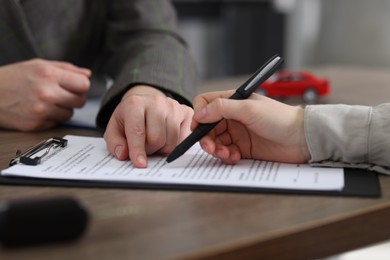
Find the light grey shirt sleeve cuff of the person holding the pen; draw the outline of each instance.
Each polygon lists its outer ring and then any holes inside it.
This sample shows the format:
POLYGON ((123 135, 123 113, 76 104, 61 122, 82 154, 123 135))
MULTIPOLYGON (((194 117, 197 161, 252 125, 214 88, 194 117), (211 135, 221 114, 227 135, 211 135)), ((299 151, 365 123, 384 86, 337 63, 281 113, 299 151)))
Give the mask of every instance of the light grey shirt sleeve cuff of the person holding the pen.
POLYGON ((304 129, 309 163, 390 174, 389 116, 390 103, 307 106, 304 129))

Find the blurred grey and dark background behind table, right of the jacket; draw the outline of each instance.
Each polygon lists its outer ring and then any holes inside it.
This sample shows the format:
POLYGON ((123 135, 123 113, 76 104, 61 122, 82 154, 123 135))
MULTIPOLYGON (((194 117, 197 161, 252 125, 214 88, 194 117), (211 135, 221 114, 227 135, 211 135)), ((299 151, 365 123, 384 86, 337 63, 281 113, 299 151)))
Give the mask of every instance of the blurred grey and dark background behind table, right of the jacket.
POLYGON ((388 0, 175 0, 202 79, 285 68, 390 65, 388 0))

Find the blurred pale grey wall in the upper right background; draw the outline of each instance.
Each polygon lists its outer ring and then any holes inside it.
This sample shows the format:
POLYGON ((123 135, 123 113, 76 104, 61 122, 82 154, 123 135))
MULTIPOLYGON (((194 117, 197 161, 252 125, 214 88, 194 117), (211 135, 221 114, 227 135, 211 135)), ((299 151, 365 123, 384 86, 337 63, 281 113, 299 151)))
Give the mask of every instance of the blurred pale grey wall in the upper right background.
MULTIPOLYGON (((280 0, 285 1, 285 0, 280 0)), ((389 0, 288 0, 287 64, 390 66, 389 0)))

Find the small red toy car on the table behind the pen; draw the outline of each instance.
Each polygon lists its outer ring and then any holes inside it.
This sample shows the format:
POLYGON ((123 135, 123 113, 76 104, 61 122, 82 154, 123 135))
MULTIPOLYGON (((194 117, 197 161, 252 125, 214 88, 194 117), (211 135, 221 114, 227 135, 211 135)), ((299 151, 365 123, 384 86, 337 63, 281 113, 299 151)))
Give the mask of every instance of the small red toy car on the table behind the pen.
POLYGON ((306 103, 315 103, 318 97, 330 93, 327 79, 320 79, 307 71, 280 71, 271 76, 256 90, 272 98, 302 97, 306 103))

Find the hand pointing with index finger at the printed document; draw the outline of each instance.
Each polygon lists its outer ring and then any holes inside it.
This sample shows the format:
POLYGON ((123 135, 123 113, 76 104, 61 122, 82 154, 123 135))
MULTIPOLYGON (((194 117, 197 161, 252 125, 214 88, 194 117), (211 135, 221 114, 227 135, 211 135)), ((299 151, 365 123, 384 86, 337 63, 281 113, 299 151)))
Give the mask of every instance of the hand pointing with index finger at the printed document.
POLYGON ((118 159, 147 167, 146 155, 166 154, 190 134, 192 108, 148 86, 132 87, 108 122, 104 139, 118 159))

